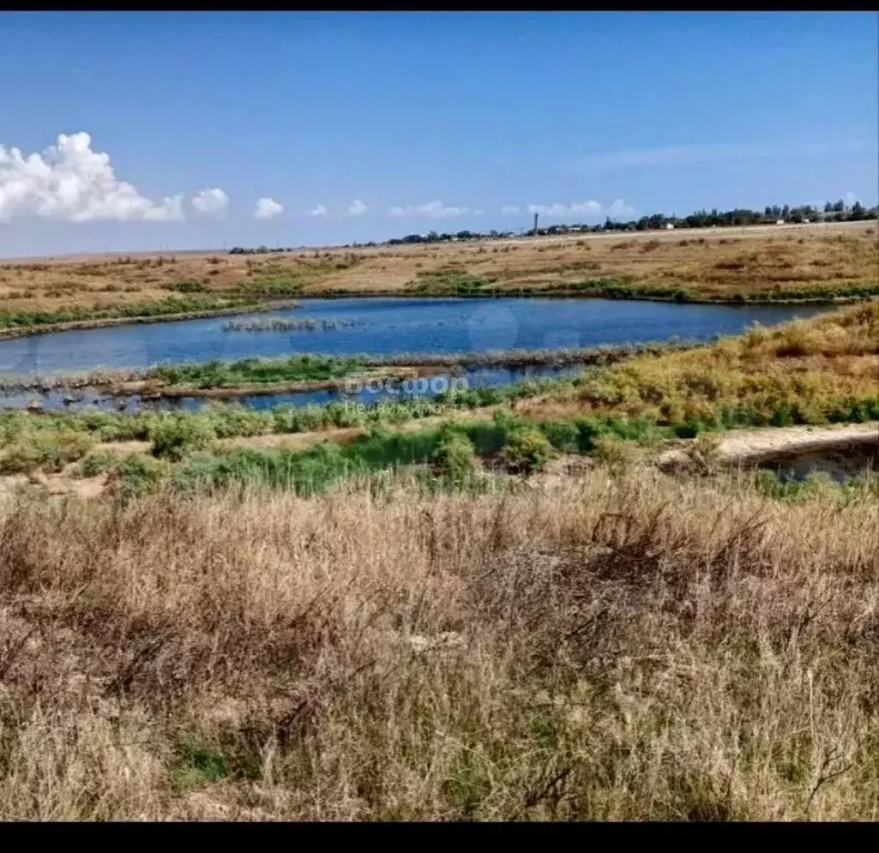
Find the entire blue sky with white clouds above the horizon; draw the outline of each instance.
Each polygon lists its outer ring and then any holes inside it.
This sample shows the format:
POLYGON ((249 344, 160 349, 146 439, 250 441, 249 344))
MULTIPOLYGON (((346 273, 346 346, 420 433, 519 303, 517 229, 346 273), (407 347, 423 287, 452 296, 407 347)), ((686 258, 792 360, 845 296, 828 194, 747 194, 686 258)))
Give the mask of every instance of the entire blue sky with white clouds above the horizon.
POLYGON ((878 39, 875 12, 7 12, 0 254, 875 204, 878 39))

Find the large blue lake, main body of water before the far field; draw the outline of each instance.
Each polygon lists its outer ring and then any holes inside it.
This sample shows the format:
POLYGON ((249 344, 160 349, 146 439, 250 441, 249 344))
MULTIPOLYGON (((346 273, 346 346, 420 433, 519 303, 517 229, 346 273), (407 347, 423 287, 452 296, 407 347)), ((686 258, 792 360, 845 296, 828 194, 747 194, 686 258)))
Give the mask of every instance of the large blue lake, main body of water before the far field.
POLYGON ((296 309, 237 321, 314 320, 313 331, 223 331, 229 318, 54 332, 0 340, 0 375, 49 377, 100 368, 213 359, 485 352, 705 341, 812 317, 828 307, 700 305, 602 299, 303 299, 296 309), (354 325, 322 330, 321 321, 354 325))

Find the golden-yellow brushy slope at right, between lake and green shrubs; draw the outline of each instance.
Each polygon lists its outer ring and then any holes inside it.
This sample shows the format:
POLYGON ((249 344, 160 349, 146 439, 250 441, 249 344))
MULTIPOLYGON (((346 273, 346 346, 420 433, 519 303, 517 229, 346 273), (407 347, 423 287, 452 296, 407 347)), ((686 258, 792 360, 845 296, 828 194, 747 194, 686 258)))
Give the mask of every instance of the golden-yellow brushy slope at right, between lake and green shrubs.
POLYGON ((769 417, 796 407, 805 422, 846 399, 879 397, 879 300, 777 328, 756 325, 708 348, 636 357, 601 369, 579 388, 523 400, 527 414, 647 415, 662 423, 741 407, 769 417))

